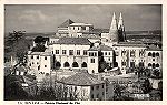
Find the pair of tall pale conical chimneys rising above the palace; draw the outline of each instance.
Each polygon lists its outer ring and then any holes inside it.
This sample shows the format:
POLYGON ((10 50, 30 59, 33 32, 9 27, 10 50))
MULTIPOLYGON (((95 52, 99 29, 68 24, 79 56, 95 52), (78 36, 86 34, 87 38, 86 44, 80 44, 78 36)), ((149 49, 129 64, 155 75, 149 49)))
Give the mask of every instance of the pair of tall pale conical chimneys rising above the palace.
MULTIPOLYGON (((118 34, 120 34, 120 33, 118 33, 119 30, 121 30, 121 32, 125 32, 122 15, 120 12, 119 21, 117 23, 116 13, 114 12, 112 21, 111 21, 110 29, 109 29, 109 40, 111 42, 117 43, 119 41, 119 35, 118 35, 118 34)), ((124 35, 124 34, 121 34, 121 35, 124 35)))

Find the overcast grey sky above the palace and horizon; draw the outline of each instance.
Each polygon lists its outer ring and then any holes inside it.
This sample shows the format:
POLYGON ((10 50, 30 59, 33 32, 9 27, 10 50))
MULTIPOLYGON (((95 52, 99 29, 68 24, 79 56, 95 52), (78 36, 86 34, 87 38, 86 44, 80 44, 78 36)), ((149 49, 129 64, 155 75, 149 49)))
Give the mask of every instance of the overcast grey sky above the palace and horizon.
POLYGON ((6 6, 4 31, 56 32, 67 19, 109 29, 112 13, 122 12, 126 30, 161 29, 161 6, 147 4, 58 4, 6 6))

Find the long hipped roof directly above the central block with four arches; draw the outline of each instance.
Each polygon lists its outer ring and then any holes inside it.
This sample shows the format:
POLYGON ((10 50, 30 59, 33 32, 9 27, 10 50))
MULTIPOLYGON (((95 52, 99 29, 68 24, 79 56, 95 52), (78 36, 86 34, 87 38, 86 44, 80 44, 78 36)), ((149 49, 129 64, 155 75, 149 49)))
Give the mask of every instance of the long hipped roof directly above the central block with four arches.
POLYGON ((56 44, 79 44, 90 45, 91 42, 86 38, 60 38, 56 44))

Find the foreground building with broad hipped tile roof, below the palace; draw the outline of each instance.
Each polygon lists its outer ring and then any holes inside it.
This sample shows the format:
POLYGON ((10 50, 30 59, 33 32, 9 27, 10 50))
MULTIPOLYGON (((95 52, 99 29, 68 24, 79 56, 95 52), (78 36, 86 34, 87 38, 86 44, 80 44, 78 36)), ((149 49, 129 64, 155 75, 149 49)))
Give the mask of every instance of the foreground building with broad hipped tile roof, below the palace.
POLYGON ((105 81, 87 72, 79 72, 67 78, 58 81, 67 87, 67 96, 73 96, 79 101, 109 99, 112 97, 112 88, 105 81))

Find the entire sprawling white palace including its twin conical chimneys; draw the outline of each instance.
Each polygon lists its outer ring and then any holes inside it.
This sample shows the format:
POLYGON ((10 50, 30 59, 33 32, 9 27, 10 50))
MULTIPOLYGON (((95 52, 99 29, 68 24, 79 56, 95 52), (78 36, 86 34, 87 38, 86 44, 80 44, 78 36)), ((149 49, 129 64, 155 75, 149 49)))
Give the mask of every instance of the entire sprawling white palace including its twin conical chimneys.
POLYGON ((92 24, 67 20, 43 46, 43 51, 28 53, 28 65, 36 75, 56 70, 97 74, 116 67, 126 74, 130 67, 160 70, 163 66, 163 50, 158 45, 126 41, 121 13, 118 22, 114 13, 109 32, 100 34, 94 31, 92 24))

